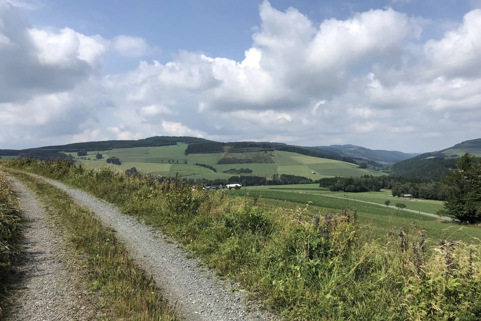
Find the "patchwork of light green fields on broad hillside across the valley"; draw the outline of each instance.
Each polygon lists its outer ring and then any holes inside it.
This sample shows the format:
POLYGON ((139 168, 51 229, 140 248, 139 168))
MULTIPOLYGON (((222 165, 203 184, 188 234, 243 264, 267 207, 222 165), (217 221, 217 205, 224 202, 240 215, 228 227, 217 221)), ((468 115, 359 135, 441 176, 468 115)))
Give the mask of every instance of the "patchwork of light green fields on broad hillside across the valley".
MULTIPOLYGON (((291 174, 311 178, 313 180, 322 177, 332 176, 361 176, 361 175, 384 175, 384 173, 369 169, 359 169, 354 164, 343 161, 323 159, 301 154, 275 151, 272 160, 274 163, 253 163, 253 164, 221 164, 217 161, 222 158, 222 153, 190 154, 185 155, 187 144, 161 147, 131 147, 114 148, 110 150, 89 151, 85 156, 90 160, 77 160, 81 164, 99 167, 105 165, 109 157, 117 157, 122 162, 122 170, 135 167, 140 172, 148 172, 160 175, 172 175, 179 173, 189 178, 206 179, 228 179, 232 174, 222 173, 231 168, 249 168, 252 175, 261 175, 271 178, 273 174, 291 174), (95 154, 102 154, 101 160, 95 160, 95 154), (187 162, 187 163, 186 163, 187 162), (217 173, 211 170, 194 165, 195 163, 213 166, 217 173), (312 174, 315 172, 316 174, 312 174)), ((69 154, 68 152, 66 152, 69 154)), ((70 153, 72 154, 72 153, 70 153)), ((72 154, 76 157, 76 153, 72 154)))

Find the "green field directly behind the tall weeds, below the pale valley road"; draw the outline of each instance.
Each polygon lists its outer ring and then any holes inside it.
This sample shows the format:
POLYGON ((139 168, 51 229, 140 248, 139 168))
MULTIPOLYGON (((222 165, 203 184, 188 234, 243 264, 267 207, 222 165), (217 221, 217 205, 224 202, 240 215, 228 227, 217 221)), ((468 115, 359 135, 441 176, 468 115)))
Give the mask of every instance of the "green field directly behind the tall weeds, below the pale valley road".
MULTIPOLYGON (((386 233, 392 232, 396 234, 399 229, 406 227, 419 226, 426 231, 429 238, 435 242, 438 239, 452 238, 456 240, 475 241, 471 238, 481 237, 481 227, 460 226, 452 222, 444 222, 435 217, 419 215, 416 213, 402 211, 387 207, 378 206, 364 202, 356 202, 353 199, 340 199, 329 197, 326 195, 304 194, 304 192, 283 191, 283 190, 266 190, 266 189, 242 188, 241 190, 226 190, 226 194, 232 196, 247 196, 250 198, 257 197, 259 203, 272 206, 281 206, 285 208, 304 207, 308 202, 310 213, 315 214, 319 211, 327 210, 329 212, 340 213, 345 207, 349 207, 351 211, 357 208, 358 221, 362 225, 371 224, 376 228, 373 229, 373 236, 376 238, 383 237, 386 233), (265 199, 266 197, 266 199, 265 199)), ((352 213, 352 212, 351 212, 352 213)), ((475 241, 479 242, 479 241, 475 241)))

